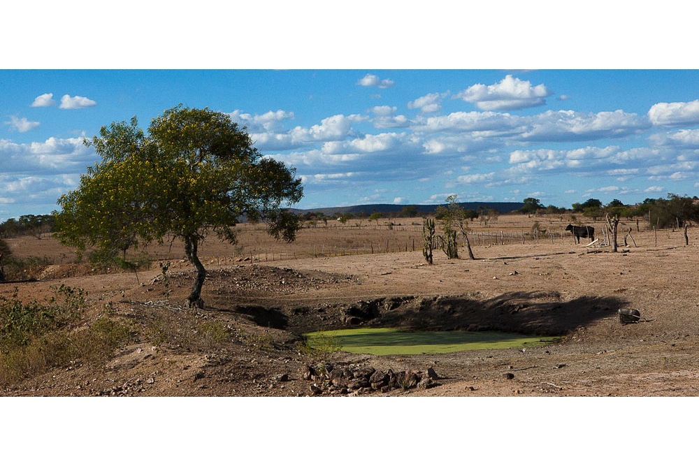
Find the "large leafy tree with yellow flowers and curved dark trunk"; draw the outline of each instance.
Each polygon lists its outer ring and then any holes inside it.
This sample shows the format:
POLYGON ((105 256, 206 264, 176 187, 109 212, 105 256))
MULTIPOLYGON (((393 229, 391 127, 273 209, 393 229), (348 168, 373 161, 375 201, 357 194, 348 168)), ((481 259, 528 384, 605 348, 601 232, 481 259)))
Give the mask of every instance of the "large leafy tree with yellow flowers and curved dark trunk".
POLYGON ((189 307, 203 307, 198 247, 207 233, 233 244, 240 217, 266 221, 268 233, 287 242, 301 228, 287 208, 303 196, 295 169, 262 156, 224 113, 178 105, 154 118, 147 134, 134 117, 84 142, 102 161, 59 198, 59 240, 113 257, 166 235, 181 238, 196 270, 189 307))

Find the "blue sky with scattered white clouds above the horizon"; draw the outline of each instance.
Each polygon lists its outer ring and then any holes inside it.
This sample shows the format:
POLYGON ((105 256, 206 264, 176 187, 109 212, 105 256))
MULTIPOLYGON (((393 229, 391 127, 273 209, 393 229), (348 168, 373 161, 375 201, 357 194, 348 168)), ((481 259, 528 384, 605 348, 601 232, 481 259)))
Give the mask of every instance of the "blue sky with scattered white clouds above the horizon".
POLYGON ((1 221, 55 210, 100 126, 179 103, 296 168, 299 208, 699 191, 697 70, 2 70, 0 90, 1 221))

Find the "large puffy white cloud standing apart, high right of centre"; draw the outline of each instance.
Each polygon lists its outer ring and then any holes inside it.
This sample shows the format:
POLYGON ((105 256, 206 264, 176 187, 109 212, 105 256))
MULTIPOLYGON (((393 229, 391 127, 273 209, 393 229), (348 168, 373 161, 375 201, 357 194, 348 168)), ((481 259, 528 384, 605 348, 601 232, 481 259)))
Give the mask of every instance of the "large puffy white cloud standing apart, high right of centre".
POLYGON ((529 81, 507 75, 493 85, 470 86, 454 95, 454 99, 474 103, 480 110, 520 110, 545 105, 545 98, 552 94, 545 85, 532 86, 529 81))

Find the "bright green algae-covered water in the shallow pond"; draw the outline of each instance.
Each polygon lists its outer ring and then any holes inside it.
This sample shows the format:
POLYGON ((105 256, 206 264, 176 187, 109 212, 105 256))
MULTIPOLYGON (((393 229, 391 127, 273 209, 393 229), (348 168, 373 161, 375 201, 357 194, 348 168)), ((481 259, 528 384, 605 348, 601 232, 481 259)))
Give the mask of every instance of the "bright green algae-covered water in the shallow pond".
POLYGON ((465 349, 504 349, 540 347, 558 337, 539 337, 517 333, 410 332, 397 328, 359 328, 307 333, 308 345, 316 349, 347 351, 357 354, 431 354, 465 349))

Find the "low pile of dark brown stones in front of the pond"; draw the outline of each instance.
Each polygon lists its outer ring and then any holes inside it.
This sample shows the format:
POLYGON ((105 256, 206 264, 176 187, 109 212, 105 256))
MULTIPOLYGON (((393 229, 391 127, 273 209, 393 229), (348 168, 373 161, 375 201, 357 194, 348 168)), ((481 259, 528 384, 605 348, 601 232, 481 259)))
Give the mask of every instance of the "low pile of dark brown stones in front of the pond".
POLYGON ((432 367, 425 371, 401 370, 394 372, 377 370, 374 367, 333 367, 322 363, 315 367, 303 368, 303 379, 313 381, 310 390, 315 395, 321 393, 346 395, 349 393, 372 393, 411 388, 427 389, 439 384, 438 375, 432 367))

